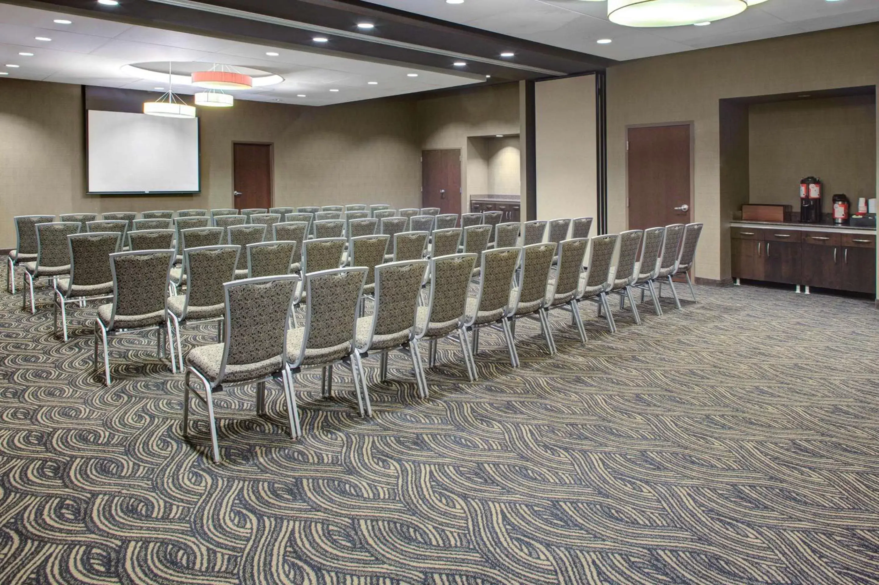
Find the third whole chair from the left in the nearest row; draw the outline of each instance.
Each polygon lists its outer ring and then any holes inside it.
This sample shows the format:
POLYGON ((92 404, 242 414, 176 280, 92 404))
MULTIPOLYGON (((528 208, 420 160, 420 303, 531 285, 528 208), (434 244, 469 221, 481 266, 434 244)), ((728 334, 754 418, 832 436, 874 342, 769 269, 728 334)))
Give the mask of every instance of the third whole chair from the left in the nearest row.
POLYGON ((367 416, 373 413, 362 360, 368 358, 370 353, 379 354, 379 379, 383 382, 388 379, 389 351, 408 350, 418 385, 418 395, 427 397, 425 375, 421 370, 421 353, 415 336, 415 315, 421 295, 421 278, 426 268, 427 261, 419 259, 381 264, 374 270, 373 314, 357 320, 354 343, 354 359, 362 377, 367 416))

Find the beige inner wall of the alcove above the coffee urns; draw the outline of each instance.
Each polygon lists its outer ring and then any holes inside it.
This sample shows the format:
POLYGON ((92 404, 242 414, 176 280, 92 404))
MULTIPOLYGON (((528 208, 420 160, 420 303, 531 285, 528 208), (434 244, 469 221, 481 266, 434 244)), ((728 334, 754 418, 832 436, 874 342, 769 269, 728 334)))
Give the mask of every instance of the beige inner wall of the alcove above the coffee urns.
POLYGON ((832 194, 852 205, 875 197, 874 96, 800 99, 749 108, 752 203, 784 203, 799 211, 802 177, 824 183, 825 213, 832 194))

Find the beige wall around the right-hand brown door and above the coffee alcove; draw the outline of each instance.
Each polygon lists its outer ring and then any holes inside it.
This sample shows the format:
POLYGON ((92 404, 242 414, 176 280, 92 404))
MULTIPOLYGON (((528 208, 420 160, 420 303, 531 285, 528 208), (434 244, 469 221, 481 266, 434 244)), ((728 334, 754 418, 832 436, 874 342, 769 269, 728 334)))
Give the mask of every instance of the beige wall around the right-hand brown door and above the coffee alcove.
MULTIPOLYGON (((879 83, 879 24, 628 61, 607 70, 608 227, 626 227, 626 126, 694 122, 694 218, 705 224, 696 272, 728 278, 729 214, 720 194, 723 97, 879 83)), ((800 177, 796 177, 797 179, 800 177)))

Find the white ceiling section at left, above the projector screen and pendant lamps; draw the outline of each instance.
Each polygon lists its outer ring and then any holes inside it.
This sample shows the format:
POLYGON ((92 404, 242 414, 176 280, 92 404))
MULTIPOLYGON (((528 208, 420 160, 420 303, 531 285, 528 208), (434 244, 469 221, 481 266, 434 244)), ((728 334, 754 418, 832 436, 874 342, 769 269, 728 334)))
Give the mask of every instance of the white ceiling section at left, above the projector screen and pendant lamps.
MULTIPOLYGON (((142 61, 204 61, 262 69, 282 76, 284 81, 235 91, 236 98, 302 105, 340 104, 484 81, 483 76, 463 72, 360 61, 0 4, 0 71, 9 74, 0 76, 0 80, 11 77, 133 90, 166 88, 167 83, 142 79, 122 69, 142 61), (55 18, 66 18, 72 24, 54 24, 55 18), (34 40, 40 36, 52 40, 34 40), (270 51, 279 56, 266 56, 270 51), (33 57, 21 56, 20 52, 33 53, 33 57), (19 67, 9 68, 6 64, 19 67), (409 77, 409 73, 418 73, 418 77, 409 77), (378 84, 368 84, 371 81, 378 84)), ((174 90, 191 94, 198 89, 175 83, 174 90)))

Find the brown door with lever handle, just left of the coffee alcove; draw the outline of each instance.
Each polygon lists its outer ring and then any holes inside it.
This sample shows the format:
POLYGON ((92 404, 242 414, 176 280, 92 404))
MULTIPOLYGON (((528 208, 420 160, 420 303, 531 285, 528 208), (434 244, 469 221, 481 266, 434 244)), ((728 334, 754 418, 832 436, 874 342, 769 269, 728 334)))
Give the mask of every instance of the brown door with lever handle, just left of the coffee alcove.
POLYGON ((690 126, 628 128, 628 228, 689 223, 690 126))

